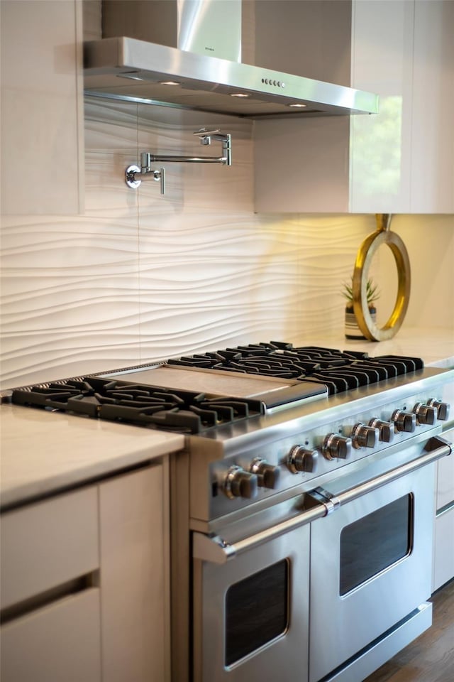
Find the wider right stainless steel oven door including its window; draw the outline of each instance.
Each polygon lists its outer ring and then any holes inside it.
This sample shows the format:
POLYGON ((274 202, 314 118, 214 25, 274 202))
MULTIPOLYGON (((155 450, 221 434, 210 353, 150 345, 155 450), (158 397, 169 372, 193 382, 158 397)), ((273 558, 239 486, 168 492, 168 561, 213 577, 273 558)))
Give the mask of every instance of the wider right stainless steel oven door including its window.
POLYGON ((430 597, 433 480, 429 464, 311 524, 310 682, 430 597))

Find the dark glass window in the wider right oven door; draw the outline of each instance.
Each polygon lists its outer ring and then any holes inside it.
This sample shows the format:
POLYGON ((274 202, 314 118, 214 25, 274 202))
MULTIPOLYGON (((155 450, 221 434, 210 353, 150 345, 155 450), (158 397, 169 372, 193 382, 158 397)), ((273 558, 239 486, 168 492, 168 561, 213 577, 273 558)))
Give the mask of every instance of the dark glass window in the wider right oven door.
POLYGON ((413 496, 404 495, 343 528, 341 596, 410 553, 412 519, 413 496))

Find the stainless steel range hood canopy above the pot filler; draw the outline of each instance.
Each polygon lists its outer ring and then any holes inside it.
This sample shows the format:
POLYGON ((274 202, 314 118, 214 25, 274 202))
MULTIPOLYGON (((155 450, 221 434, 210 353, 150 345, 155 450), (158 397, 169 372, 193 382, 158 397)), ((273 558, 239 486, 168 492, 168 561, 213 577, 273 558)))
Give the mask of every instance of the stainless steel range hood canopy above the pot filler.
MULTIPOLYGON (((178 0, 178 4, 207 6, 209 1, 178 0)), ((106 4, 115 12, 121 5, 119 0, 106 4)), ((194 13, 190 21, 193 34, 194 13)), ((116 20, 117 27, 124 25, 124 16, 116 20)), ((182 27, 181 17, 178 27, 182 27)), ((378 112, 378 97, 369 92, 138 40, 137 36, 143 36, 142 26, 133 31, 128 27, 128 35, 134 37, 118 36, 116 31, 115 37, 84 45, 87 94, 253 119, 378 112)), ((216 31, 218 35, 218 26, 216 31)))

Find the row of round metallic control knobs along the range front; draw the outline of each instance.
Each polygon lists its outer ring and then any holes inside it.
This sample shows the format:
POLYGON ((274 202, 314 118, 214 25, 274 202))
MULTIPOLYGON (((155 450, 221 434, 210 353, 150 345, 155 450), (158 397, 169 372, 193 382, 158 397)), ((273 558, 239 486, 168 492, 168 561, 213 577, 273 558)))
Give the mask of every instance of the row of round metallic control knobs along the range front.
MULTIPOLYGON (((321 453, 326 460, 345 460, 352 448, 375 448, 379 442, 392 443, 394 433, 413 433, 417 424, 433 426, 438 419, 445 421, 448 415, 449 405, 431 398, 426 404, 416 403, 411 412, 394 410, 390 421, 372 418, 368 424, 358 422, 353 426, 350 437, 328 433, 323 440, 321 453)), ((318 457, 318 450, 294 445, 287 455, 287 467, 294 474, 313 472, 318 457)), ((250 463, 249 470, 236 465, 230 467, 224 477, 222 489, 231 499, 248 499, 255 497, 258 487, 277 487, 279 477, 279 466, 257 457, 250 463)))

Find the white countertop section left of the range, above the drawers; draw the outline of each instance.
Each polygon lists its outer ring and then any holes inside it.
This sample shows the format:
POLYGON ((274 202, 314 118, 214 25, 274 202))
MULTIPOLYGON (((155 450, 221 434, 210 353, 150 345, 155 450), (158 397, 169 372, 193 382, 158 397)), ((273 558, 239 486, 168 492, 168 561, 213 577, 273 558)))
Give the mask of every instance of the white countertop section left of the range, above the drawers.
POLYGON ((1 507, 96 480, 181 450, 184 436, 1 405, 1 507))

